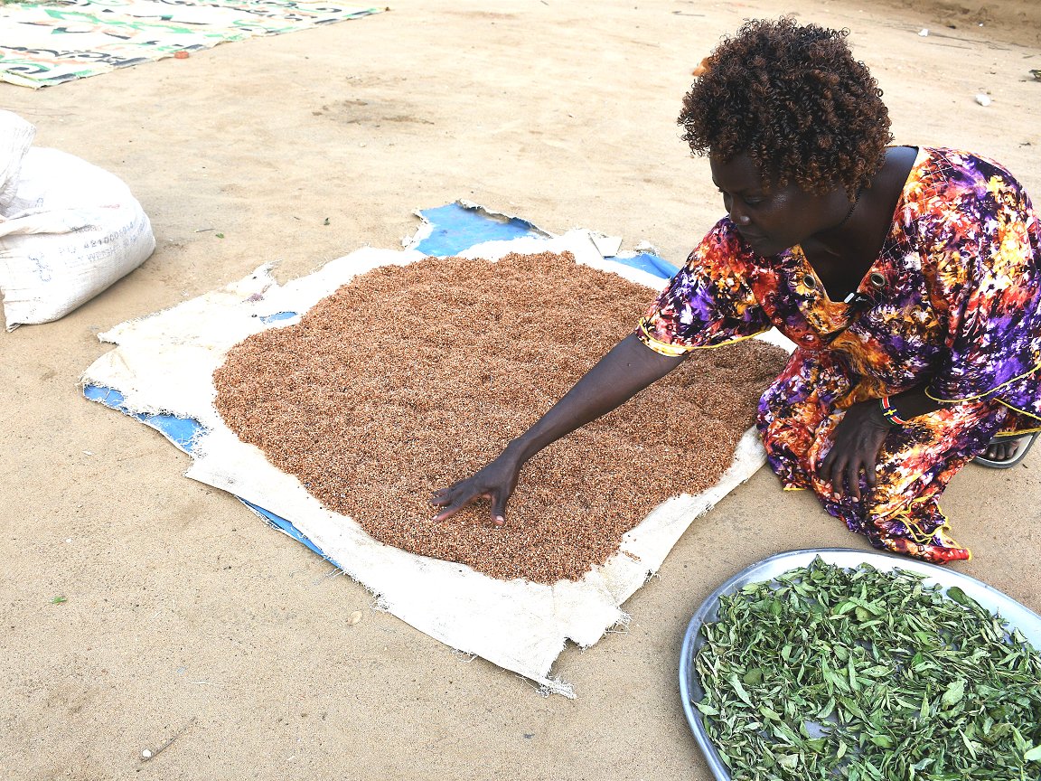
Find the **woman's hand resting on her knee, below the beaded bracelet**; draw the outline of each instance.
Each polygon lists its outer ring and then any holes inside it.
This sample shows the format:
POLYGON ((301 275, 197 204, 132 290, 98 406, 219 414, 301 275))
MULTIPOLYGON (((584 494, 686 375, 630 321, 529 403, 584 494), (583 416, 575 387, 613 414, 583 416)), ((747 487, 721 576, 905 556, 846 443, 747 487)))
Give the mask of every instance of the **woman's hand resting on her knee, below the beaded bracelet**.
POLYGON ((874 467, 891 427, 877 400, 854 404, 835 428, 832 449, 817 474, 831 482, 835 494, 859 500, 861 472, 867 488, 874 489, 874 467))

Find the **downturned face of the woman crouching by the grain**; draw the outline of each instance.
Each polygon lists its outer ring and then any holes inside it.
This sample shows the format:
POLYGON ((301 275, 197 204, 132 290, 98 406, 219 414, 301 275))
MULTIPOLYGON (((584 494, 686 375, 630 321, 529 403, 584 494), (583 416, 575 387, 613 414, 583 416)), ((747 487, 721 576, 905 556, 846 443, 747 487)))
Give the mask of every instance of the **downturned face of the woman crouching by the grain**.
POLYGON ((776 255, 841 224, 849 200, 839 186, 826 195, 807 193, 794 182, 767 190, 748 155, 725 162, 710 155, 712 182, 738 233, 760 255, 776 255))

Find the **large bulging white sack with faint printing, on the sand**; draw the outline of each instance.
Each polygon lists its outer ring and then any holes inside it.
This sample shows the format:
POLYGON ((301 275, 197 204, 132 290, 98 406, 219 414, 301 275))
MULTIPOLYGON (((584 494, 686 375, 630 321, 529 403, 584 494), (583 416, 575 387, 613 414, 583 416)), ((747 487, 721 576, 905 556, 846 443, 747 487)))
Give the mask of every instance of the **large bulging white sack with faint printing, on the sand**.
POLYGON ((68 314, 154 249, 148 216, 119 177, 56 149, 29 149, 14 196, 0 204, 7 330, 68 314))

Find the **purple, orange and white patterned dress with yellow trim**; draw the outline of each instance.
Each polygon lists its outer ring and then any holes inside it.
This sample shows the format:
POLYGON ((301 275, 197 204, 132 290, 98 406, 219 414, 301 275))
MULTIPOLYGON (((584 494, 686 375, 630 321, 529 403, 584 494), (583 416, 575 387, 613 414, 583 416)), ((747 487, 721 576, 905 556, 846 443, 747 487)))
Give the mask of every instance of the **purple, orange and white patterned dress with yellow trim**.
POLYGON ((937 499, 995 435, 1041 427, 1041 225, 1004 168, 919 148, 882 250, 853 301, 829 299, 799 247, 763 257, 729 218, 694 249, 636 332, 664 355, 776 326, 796 347, 757 426, 786 489, 812 489, 873 546, 967 559, 937 499), (935 412, 890 429, 873 492, 817 476, 844 409, 923 386, 935 412))

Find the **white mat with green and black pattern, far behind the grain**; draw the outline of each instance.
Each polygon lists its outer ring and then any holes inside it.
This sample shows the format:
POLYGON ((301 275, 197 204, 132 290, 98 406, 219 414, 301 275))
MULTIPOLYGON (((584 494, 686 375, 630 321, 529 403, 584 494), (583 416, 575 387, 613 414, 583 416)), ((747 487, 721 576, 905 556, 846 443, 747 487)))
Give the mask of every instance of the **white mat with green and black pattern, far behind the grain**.
POLYGON ((227 41, 378 14, 315 0, 51 0, 5 3, 0 79, 49 86, 227 41))

